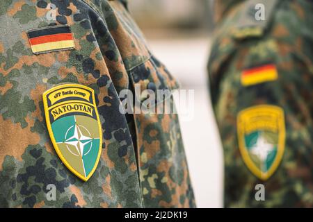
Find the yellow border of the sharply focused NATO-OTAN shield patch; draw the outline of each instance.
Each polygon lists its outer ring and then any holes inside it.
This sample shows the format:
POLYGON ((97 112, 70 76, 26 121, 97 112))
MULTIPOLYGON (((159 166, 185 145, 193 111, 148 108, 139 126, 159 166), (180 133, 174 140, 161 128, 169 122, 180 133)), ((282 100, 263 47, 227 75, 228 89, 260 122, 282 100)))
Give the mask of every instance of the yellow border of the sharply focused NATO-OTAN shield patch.
POLYGON ((99 114, 98 114, 98 110, 97 110, 97 106, 95 105, 95 91, 90 88, 87 87, 85 85, 80 85, 80 84, 72 84, 72 83, 65 83, 65 84, 61 84, 61 85, 56 85, 55 87, 52 87, 51 89, 48 89, 47 91, 45 91, 42 94, 43 97, 43 103, 44 103, 44 109, 45 109, 45 118, 46 118, 46 123, 47 123, 47 128, 48 128, 48 132, 49 132, 49 136, 51 139, 52 144, 54 145, 54 149, 56 151, 56 153, 58 154, 58 157, 60 157, 61 161, 65 164, 65 166, 67 167, 67 169, 70 169, 70 171, 72 173, 74 173, 75 176, 77 176, 78 178, 80 178, 81 180, 83 180, 84 182, 86 182, 87 180, 90 179, 91 176, 93 176, 93 173, 95 173, 95 170, 97 169, 97 166, 99 164, 99 160, 101 157, 101 153, 102 153, 102 127, 101 127, 101 123, 100 123, 100 119, 99 119, 99 114), (87 177, 82 176, 79 172, 77 172, 73 167, 71 167, 71 165, 66 161, 65 157, 63 157, 61 151, 59 150, 58 146, 56 145, 56 139, 54 138, 54 133, 52 131, 51 128, 51 124, 49 122, 49 112, 48 112, 48 101, 47 101, 47 94, 49 94, 52 91, 55 91, 56 89, 62 89, 64 87, 79 87, 79 88, 83 88, 83 89, 87 89, 90 90, 93 94, 93 102, 94 102, 94 108, 95 108, 95 114, 97 116, 97 122, 98 122, 98 127, 99 127, 99 132, 101 133, 100 137, 99 137, 99 152, 97 155, 97 160, 95 162, 95 166, 93 167, 93 169, 90 171, 89 175, 87 177))

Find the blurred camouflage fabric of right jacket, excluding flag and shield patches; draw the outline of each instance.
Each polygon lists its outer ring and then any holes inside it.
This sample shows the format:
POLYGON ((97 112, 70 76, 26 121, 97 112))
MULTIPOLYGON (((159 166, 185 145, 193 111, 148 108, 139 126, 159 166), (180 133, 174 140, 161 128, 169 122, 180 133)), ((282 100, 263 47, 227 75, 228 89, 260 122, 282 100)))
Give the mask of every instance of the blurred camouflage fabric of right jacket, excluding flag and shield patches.
POLYGON ((313 207, 313 1, 277 1, 273 10, 266 8, 271 15, 265 24, 244 27, 239 24, 243 16, 255 19, 250 13, 254 8, 249 12, 246 7, 251 2, 237 3, 224 14, 208 65, 225 156, 225 207, 313 207), (278 80, 241 85, 244 69, 268 63, 278 69, 278 80), (246 167, 236 136, 237 114, 264 104, 284 110, 286 127, 282 162, 266 181, 246 167), (265 201, 255 200, 259 183, 264 184, 265 201))

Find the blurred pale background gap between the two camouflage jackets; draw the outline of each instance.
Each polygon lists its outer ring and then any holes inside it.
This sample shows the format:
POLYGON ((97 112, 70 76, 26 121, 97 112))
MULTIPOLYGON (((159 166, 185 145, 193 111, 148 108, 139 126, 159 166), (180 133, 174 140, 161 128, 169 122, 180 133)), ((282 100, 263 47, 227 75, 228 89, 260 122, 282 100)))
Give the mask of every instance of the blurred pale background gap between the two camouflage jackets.
POLYGON ((179 81, 194 89, 192 119, 180 118, 198 207, 223 207, 223 151, 209 101, 212 3, 209 0, 129 0, 129 10, 147 43, 179 81))

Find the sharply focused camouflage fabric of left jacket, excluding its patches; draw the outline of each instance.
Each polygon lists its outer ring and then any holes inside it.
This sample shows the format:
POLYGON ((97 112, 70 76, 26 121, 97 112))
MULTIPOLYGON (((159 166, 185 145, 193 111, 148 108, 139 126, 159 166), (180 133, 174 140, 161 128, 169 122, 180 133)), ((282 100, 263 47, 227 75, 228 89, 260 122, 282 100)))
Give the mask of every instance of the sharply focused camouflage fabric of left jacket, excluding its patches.
POLYGON ((0 30, 0 207, 195 207, 177 114, 119 112, 122 89, 177 88, 126 1, 5 0, 0 30), (58 24, 70 26, 75 49, 34 55, 26 31, 58 24), (42 93, 58 83, 96 93, 104 142, 88 182, 49 139, 42 93))

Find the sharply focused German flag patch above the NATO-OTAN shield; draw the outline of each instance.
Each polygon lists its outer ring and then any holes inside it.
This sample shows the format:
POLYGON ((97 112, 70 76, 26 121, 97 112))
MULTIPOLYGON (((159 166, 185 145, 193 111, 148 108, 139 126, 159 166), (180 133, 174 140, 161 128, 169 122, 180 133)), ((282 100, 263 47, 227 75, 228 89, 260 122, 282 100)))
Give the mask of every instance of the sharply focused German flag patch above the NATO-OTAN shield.
POLYGON ((34 54, 74 49, 74 37, 70 26, 48 26, 27 32, 34 54))

